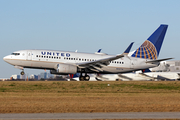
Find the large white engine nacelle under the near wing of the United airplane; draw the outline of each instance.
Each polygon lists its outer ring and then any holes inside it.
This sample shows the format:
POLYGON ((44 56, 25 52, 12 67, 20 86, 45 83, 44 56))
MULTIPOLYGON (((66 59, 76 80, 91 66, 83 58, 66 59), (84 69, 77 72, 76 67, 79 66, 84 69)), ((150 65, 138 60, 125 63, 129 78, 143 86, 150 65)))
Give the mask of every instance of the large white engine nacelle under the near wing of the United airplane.
POLYGON ((57 64, 55 66, 56 72, 59 74, 76 74, 77 66, 70 64, 57 64))

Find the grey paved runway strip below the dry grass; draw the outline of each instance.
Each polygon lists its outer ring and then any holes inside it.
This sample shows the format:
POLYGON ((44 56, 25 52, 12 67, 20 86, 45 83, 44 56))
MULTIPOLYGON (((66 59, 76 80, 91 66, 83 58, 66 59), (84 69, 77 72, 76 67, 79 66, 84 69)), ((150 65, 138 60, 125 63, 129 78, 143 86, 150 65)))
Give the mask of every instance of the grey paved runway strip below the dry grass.
POLYGON ((180 112, 14 113, 0 119, 180 119, 180 112))

